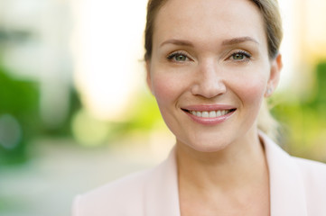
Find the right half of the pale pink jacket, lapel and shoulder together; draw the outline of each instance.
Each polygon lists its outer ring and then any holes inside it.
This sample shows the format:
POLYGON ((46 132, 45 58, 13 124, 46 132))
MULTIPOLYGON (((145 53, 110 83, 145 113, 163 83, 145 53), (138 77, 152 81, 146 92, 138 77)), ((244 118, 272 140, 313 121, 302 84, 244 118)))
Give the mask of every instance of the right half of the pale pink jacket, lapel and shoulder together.
POLYGON ((278 208, 277 210, 287 208, 289 212, 301 209, 301 211, 309 212, 309 215, 324 215, 326 212, 326 165, 308 159, 291 157, 265 134, 260 133, 260 137, 265 144, 272 201, 276 203, 275 208, 278 208))

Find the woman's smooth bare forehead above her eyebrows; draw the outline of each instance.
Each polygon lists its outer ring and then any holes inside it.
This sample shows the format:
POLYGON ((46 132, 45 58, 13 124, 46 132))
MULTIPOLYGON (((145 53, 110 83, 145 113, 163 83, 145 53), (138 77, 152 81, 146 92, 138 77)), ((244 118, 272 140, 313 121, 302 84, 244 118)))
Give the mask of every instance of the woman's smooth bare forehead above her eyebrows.
POLYGON ((155 40, 252 37, 266 43, 265 24, 249 0, 168 0, 154 23, 155 40), (264 41, 265 40, 265 41, 264 41))

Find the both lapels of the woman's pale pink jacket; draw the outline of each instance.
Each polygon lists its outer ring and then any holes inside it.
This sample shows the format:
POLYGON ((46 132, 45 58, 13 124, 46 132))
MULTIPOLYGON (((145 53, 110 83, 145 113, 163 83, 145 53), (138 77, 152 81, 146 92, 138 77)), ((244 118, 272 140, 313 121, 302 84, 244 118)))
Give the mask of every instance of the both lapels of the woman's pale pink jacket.
MULTIPOLYGON (((292 157, 263 132, 269 168, 271 216, 307 216, 303 177, 292 157)), ((156 169, 145 187, 146 216, 180 216, 178 174, 175 148, 156 169)))

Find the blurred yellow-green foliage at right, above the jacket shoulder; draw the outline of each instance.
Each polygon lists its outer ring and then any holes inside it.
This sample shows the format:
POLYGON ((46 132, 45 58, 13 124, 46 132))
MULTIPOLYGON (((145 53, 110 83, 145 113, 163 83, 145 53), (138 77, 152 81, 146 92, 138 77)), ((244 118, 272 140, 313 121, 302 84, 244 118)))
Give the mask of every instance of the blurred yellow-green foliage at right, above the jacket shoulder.
POLYGON ((309 100, 282 103, 272 112, 284 126, 283 142, 292 155, 326 162, 326 62, 316 67, 316 75, 309 100))

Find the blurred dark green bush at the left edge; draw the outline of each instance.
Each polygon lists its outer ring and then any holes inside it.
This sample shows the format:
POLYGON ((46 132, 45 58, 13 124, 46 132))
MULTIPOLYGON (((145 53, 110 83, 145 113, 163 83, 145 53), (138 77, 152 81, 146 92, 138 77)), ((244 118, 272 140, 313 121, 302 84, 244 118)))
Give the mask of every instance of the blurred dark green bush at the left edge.
POLYGON ((38 107, 38 85, 0 68, 0 165, 26 160, 26 145, 40 128, 38 107))

